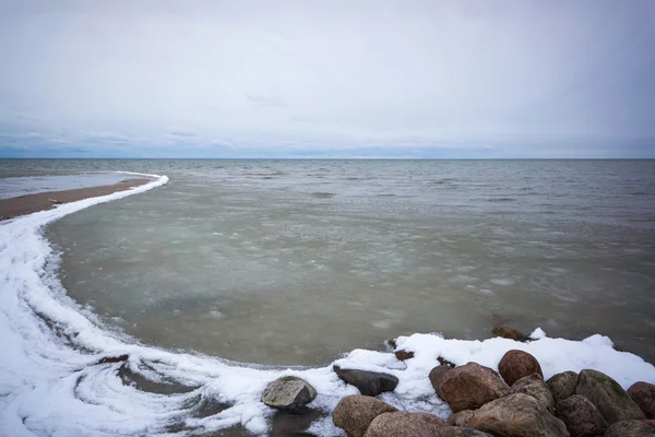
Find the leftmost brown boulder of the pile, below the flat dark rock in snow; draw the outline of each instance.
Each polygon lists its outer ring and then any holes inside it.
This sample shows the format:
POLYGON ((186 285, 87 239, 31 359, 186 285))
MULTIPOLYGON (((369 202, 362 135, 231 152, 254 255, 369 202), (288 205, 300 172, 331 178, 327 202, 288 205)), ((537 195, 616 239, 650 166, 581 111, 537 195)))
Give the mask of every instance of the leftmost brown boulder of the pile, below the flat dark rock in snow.
POLYGON ((366 395, 345 397, 332 412, 332 421, 344 429, 348 437, 361 437, 380 414, 393 413, 397 410, 379 399, 366 395))

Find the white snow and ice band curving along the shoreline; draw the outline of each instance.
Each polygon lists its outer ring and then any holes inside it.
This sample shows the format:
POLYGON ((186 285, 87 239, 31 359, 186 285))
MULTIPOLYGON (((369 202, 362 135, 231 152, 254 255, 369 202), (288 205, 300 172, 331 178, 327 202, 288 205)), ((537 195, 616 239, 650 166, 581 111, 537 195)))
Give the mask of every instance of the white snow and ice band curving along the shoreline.
MULTIPOLYGON (((266 383, 297 375, 319 393, 311 406, 330 412, 357 389, 343 383, 332 364, 317 368, 276 368, 180 354, 140 344, 103 327, 70 299, 53 274, 56 255, 43 236, 48 224, 82 209, 165 185, 166 176, 128 191, 62 204, 57 209, 0 224, 0 435, 117 436, 199 435, 243 425, 263 434, 273 411, 260 402, 266 383), (128 354, 126 363, 97 364, 128 354), (148 389, 150 387, 150 389, 148 389), (169 389, 164 390, 163 387, 169 389), (223 405, 206 413, 207 405, 223 405)), ((395 375, 400 383, 381 399, 401 409, 445 417, 450 410, 437 398, 428 373, 441 356, 456 365, 469 361, 497 368, 511 349, 539 359, 545 377, 596 368, 623 387, 655 382, 655 367, 636 355, 618 352, 611 341, 593 335, 583 341, 549 339, 446 340, 439 334, 397 339, 397 347, 415 352, 406 363, 394 354, 355 350, 333 364, 395 375)), ((310 432, 338 435, 330 417, 310 432)))

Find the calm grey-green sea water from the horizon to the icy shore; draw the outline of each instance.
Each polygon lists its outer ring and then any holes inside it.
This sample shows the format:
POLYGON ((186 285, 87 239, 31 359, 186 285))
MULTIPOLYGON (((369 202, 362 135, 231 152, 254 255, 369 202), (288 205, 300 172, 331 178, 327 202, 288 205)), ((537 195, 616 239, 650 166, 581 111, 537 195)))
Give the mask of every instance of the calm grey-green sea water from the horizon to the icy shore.
POLYGON ((655 361, 655 161, 0 161, 154 191, 47 229, 69 294, 169 349, 320 364, 497 320, 655 361))

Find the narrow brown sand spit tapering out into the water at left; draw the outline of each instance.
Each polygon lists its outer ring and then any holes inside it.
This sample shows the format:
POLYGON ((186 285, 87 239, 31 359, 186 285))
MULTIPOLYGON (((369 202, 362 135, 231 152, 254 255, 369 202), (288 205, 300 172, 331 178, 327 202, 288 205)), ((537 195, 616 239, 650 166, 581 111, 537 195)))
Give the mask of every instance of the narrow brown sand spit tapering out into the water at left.
POLYGON ((20 196, 17 198, 0 199, 0 220, 13 218, 19 215, 49 210, 52 205, 58 203, 69 203, 82 199, 107 196, 117 191, 124 191, 151 181, 151 179, 126 179, 114 185, 78 188, 64 191, 46 191, 20 196))

